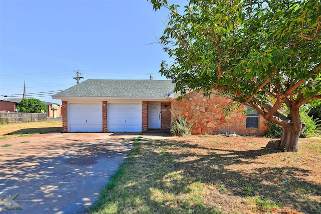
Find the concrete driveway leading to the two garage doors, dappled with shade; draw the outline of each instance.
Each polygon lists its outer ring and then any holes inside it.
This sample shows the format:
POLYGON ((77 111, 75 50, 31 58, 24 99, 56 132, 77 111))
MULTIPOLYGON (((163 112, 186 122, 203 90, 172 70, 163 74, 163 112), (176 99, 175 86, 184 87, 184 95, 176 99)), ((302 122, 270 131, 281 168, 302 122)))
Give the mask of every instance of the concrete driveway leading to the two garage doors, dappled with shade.
POLYGON ((2 140, 0 146, 12 146, 0 147, 0 211, 87 213, 140 135, 56 133, 2 140), (6 209, 6 195, 16 193, 14 201, 24 210, 6 209))

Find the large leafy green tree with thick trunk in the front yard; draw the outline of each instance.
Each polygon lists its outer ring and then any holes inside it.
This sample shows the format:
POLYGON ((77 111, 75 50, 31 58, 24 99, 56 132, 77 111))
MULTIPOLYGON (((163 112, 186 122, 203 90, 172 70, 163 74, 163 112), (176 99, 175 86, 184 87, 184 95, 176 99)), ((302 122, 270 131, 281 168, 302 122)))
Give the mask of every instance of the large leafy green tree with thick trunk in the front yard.
POLYGON ((321 99, 320 3, 190 0, 182 10, 150 2, 170 10, 159 43, 173 62, 160 72, 175 91, 217 90, 247 104, 282 126, 280 148, 297 151, 299 108, 321 99))

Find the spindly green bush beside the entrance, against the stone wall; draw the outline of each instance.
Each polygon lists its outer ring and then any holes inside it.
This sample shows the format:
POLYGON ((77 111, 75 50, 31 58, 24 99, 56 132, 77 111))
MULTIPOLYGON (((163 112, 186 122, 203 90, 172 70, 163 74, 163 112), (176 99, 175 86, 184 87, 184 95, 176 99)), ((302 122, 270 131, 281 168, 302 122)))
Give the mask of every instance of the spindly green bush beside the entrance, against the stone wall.
POLYGON ((170 132, 173 136, 183 136, 183 135, 191 135, 191 128, 193 126, 193 121, 190 125, 187 123, 187 119, 184 118, 179 113, 175 113, 171 111, 173 114, 173 122, 170 126, 170 132))

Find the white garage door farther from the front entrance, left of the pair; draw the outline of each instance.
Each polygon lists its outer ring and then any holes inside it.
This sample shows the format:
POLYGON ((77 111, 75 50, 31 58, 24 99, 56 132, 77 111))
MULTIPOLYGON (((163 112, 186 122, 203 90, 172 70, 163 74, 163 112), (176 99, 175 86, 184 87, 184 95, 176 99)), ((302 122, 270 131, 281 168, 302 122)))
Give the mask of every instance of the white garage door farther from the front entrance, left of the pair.
POLYGON ((102 104, 70 104, 70 132, 102 132, 102 104))

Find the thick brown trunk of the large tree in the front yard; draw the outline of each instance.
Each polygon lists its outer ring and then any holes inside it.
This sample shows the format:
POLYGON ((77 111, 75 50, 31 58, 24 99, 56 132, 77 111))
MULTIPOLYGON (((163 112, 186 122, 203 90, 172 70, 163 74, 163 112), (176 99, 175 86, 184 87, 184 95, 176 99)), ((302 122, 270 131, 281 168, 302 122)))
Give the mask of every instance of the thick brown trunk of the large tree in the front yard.
POLYGON ((280 149, 296 152, 300 132, 302 130, 302 124, 300 120, 299 109, 292 108, 290 109, 290 112, 291 122, 283 126, 280 149))

